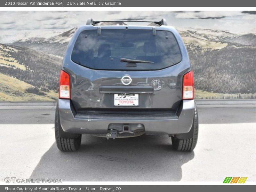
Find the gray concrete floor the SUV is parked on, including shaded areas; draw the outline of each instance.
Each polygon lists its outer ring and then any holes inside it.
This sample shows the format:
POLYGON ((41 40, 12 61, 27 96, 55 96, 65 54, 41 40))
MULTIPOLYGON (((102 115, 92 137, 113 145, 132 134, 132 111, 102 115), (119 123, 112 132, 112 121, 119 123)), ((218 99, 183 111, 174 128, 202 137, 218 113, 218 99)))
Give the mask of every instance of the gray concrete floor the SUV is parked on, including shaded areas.
POLYGON ((199 108, 193 152, 172 149, 168 136, 107 140, 83 135, 76 152, 54 139, 54 109, 0 110, 0 181, 256 181, 256 108, 199 108))

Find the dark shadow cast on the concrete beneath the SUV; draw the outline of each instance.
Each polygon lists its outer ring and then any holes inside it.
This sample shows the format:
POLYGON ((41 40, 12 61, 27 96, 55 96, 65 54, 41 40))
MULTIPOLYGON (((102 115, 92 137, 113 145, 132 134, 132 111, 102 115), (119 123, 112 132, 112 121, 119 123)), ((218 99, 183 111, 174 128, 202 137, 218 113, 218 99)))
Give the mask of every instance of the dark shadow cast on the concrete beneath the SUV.
POLYGON ((82 136, 78 151, 59 151, 56 143, 42 156, 30 178, 62 181, 179 181, 181 166, 194 152, 174 151, 166 135, 109 139, 82 136))

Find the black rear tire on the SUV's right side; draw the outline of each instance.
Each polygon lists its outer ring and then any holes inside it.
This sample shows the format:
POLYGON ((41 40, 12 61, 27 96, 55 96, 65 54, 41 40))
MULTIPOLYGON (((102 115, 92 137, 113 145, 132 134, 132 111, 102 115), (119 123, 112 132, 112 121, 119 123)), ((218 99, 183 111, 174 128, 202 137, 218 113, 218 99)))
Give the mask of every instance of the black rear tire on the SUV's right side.
POLYGON ((188 139, 178 139, 174 135, 174 137, 172 137, 172 147, 177 151, 193 151, 194 148, 196 147, 197 138, 198 138, 198 115, 197 115, 196 103, 195 103, 193 125, 190 132, 193 132, 193 137, 188 139))

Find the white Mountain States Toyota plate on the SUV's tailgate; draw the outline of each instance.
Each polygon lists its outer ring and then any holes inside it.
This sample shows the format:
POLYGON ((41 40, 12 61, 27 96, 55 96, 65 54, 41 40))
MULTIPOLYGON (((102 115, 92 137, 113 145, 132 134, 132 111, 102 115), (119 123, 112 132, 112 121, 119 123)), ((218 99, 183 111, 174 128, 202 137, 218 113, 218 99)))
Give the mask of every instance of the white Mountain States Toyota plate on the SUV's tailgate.
POLYGON ((115 106, 139 106, 139 94, 114 94, 115 106))

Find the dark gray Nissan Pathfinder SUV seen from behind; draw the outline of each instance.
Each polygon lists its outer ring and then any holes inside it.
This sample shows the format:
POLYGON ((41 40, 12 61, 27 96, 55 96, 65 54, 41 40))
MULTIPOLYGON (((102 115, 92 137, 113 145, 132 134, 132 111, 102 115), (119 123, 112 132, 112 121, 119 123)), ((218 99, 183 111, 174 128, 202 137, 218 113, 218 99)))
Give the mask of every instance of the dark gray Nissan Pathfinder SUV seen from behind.
POLYGON ((138 21, 89 19, 69 42, 55 115, 60 150, 77 150, 82 134, 166 134, 176 150, 195 148, 193 72, 180 35, 164 19, 128 22, 138 21))

